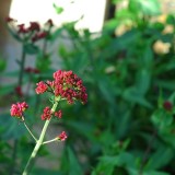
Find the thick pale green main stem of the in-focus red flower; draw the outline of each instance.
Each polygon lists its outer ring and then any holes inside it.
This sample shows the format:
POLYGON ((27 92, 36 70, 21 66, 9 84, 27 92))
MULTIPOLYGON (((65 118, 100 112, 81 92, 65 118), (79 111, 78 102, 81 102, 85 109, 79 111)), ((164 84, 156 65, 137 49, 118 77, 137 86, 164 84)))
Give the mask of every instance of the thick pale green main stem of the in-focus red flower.
MULTIPOLYGON (((55 102, 55 104, 52 105, 52 108, 51 108, 51 112, 52 112, 52 113, 56 110, 57 105, 58 105, 58 101, 55 102)), ((28 173, 30 173, 30 171, 31 171, 31 168, 32 168, 32 165, 33 165, 33 163, 34 163, 34 161, 35 161, 35 159, 36 159, 36 154, 37 154, 40 145, 43 144, 44 137, 45 137, 45 135, 46 135, 46 130, 47 130, 47 127, 48 127, 50 120, 51 120, 51 118, 50 118, 49 120, 46 120, 46 122, 45 122, 45 125, 44 125, 44 127, 43 127, 43 130, 42 130, 39 140, 36 142, 36 145, 35 145, 35 148, 34 148, 34 150, 33 150, 33 152, 32 152, 32 154, 31 154, 31 156, 30 156, 30 159, 28 159, 28 162, 27 162, 27 164, 26 164, 26 166, 25 166, 24 172, 23 172, 22 175, 28 175, 28 173)))

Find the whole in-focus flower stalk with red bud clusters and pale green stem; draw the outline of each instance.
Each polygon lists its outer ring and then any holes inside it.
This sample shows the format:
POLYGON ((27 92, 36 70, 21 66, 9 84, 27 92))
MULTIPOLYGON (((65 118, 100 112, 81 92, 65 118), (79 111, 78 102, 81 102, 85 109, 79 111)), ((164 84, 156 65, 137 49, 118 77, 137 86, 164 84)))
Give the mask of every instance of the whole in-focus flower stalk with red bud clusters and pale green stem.
POLYGON ((83 85, 82 80, 72 71, 58 70, 54 73, 52 77, 54 77, 52 81, 46 81, 46 82, 40 81, 36 84, 35 89, 37 94, 43 94, 48 92, 50 93, 50 97, 52 98, 52 107, 50 108, 49 106, 46 106, 40 118, 42 120, 45 120, 45 125, 43 127, 43 130, 38 139, 36 139, 36 137, 32 133, 32 131, 25 124, 24 112, 28 108, 28 105, 25 102, 22 102, 12 104, 11 106, 10 110, 11 116, 23 121, 30 135, 34 138, 36 142, 35 148, 23 171, 23 175, 27 175, 32 170, 38 150, 43 144, 47 144, 54 141, 65 141, 67 139, 67 133, 62 131, 59 136, 57 136, 51 140, 48 141, 44 140, 47 128, 51 121, 51 118, 52 117, 61 118, 62 115, 61 110, 59 109, 57 112, 58 103, 61 101, 67 101, 68 104, 73 104, 74 101, 80 101, 82 104, 85 104, 88 102, 86 89, 83 85))

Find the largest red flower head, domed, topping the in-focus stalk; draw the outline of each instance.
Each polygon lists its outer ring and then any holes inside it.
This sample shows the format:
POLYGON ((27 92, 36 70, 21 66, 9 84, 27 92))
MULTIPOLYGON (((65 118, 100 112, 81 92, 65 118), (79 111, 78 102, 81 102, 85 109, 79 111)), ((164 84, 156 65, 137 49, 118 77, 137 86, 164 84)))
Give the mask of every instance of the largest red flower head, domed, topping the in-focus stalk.
POLYGON ((54 73, 54 81, 47 81, 47 83, 40 81, 36 85, 37 94, 42 94, 49 89, 55 96, 67 100, 69 104, 72 104, 74 100, 81 101, 83 104, 88 101, 86 89, 82 80, 72 71, 58 70, 54 73))

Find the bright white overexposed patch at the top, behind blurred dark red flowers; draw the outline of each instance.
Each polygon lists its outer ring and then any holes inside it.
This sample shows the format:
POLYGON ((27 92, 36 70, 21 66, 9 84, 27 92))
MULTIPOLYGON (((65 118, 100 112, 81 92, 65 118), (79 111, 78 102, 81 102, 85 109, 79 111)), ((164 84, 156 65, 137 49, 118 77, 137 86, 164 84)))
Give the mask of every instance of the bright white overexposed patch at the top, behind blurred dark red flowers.
POLYGON ((19 23, 28 24, 31 21, 44 24, 51 19, 57 26, 66 22, 77 21, 77 28, 89 28, 100 32, 103 27, 106 0, 13 0, 10 16, 19 23), (63 8, 57 14, 52 4, 63 8))

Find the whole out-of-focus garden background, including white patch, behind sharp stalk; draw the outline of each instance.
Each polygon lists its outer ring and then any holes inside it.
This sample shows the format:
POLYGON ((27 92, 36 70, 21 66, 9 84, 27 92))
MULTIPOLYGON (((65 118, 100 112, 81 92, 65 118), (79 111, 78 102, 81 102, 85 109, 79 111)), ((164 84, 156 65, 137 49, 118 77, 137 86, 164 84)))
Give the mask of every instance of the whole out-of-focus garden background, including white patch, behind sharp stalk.
POLYGON ((35 145, 11 104, 28 103, 39 136, 50 102, 36 83, 62 69, 83 80, 89 101, 60 103, 46 140, 68 139, 43 147, 32 175, 174 175, 174 0, 0 0, 0 174, 22 174, 35 145), (31 22, 47 37, 22 39, 19 24, 31 22))

